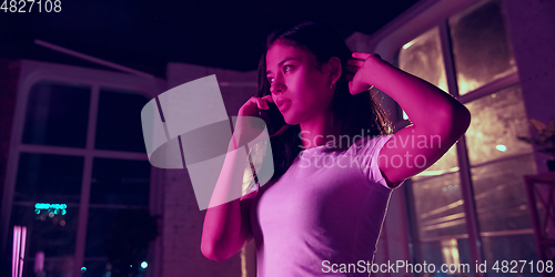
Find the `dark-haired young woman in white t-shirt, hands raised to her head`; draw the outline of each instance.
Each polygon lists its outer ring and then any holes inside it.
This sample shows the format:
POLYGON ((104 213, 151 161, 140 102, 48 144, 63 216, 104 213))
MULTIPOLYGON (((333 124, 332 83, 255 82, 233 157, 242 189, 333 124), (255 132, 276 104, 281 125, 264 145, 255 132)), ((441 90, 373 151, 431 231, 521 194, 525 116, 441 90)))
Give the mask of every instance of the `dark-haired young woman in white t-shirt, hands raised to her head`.
MULTIPOLYGON (((270 122, 286 124, 271 136, 274 175, 258 192, 206 211, 202 253, 224 260, 254 239, 258 276, 367 276, 361 265, 373 260, 392 189, 447 152, 468 127, 468 111, 377 54, 352 53, 312 22, 270 34, 259 74, 259 93, 239 116, 276 104, 270 122), (412 125, 391 134, 372 86, 412 125), (357 267, 339 273, 341 265, 357 267)), ((226 157, 224 167, 232 166, 226 157)), ((220 179, 216 188, 238 189, 220 179)))

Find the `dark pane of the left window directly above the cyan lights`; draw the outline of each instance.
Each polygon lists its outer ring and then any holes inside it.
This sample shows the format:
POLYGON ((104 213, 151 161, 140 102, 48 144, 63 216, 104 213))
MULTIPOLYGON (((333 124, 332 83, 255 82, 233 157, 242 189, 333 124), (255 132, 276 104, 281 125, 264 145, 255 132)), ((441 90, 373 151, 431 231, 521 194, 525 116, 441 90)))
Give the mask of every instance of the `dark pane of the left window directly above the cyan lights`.
POLYGON ((83 157, 21 153, 14 201, 78 203, 83 157))

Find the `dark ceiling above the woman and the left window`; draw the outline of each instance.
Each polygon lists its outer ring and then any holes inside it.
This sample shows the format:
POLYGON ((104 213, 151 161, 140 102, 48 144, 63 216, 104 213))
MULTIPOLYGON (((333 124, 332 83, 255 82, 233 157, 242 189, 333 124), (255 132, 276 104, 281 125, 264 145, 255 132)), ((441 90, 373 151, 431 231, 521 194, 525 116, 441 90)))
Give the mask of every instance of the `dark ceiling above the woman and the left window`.
POLYGON ((372 34, 416 2, 61 0, 61 12, 0 11, 0 58, 102 68, 34 44, 39 39, 162 78, 168 62, 249 71, 276 23, 321 21, 346 39, 372 34))

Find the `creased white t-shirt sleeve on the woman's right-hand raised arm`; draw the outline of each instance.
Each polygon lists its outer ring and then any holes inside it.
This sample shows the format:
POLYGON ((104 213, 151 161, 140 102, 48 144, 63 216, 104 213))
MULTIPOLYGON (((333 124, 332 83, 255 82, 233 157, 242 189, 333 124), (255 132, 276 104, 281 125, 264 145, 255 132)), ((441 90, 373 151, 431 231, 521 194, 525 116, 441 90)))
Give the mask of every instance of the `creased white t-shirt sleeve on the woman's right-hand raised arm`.
MULTIPOLYGON (((367 181, 372 183, 379 183, 389 189, 393 189, 387 186, 387 182, 382 175, 380 167, 377 166, 379 155, 382 147, 387 143, 387 141, 393 135, 376 136, 373 138, 365 138, 360 145, 356 145, 356 160, 361 167, 362 174, 367 181)), ((403 182, 402 182, 403 183, 403 182)), ((401 184, 402 184, 401 183, 401 184)), ((398 184, 396 187, 401 186, 398 184)))

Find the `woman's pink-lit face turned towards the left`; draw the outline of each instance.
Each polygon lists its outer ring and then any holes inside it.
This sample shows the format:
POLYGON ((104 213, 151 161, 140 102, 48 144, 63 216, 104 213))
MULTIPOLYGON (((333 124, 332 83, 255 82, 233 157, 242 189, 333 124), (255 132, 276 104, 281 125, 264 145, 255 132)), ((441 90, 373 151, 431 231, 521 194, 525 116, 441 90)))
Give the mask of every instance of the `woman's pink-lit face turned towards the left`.
POLYGON ((266 52, 266 78, 272 99, 290 125, 325 119, 333 99, 331 79, 316 69, 314 54, 275 42, 266 52))

